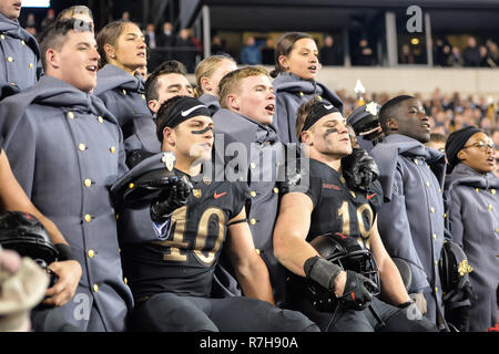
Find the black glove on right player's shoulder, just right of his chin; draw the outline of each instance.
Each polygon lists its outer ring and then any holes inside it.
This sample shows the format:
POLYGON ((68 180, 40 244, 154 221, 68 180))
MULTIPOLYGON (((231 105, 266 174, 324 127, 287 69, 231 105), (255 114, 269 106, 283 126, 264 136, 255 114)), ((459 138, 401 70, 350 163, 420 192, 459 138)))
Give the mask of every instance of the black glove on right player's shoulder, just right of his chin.
POLYGON ((349 189, 367 190, 378 179, 379 169, 374 158, 361 148, 342 158, 343 176, 349 189))

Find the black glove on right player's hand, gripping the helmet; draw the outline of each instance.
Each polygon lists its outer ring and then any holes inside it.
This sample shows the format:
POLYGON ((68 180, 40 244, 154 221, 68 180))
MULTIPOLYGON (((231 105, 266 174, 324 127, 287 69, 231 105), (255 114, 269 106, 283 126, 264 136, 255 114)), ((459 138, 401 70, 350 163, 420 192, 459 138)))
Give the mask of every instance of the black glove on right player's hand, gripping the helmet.
POLYGON ((347 270, 346 273, 345 290, 343 296, 339 298, 339 302, 344 309, 357 311, 366 309, 373 301, 373 295, 367 289, 375 290, 377 289, 376 284, 370 279, 352 270, 347 270))

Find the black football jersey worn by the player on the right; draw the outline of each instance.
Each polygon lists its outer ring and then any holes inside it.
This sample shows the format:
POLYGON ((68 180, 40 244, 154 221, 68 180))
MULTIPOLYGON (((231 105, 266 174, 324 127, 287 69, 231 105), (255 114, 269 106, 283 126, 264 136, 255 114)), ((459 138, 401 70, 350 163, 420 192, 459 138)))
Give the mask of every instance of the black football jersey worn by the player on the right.
POLYGON ((375 180, 367 192, 353 191, 334 168, 310 159, 306 195, 314 204, 307 241, 327 232, 339 232, 356 238, 363 248, 370 248, 370 230, 383 205, 379 181, 375 180))

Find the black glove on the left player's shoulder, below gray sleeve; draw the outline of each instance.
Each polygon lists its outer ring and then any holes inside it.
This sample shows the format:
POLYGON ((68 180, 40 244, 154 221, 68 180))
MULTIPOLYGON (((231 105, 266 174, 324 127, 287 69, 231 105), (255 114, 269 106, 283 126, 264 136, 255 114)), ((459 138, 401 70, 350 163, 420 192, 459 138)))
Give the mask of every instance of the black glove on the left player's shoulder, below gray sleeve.
POLYGON ((161 192, 156 200, 151 202, 151 220, 157 223, 167 220, 175 209, 187 202, 192 189, 193 186, 185 176, 174 181, 170 188, 161 192))

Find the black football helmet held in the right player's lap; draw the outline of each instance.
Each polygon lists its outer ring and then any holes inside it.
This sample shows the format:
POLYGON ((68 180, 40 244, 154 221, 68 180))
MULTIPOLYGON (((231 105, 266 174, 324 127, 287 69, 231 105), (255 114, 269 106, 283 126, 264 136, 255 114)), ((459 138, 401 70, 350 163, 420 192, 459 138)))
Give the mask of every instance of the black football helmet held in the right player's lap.
MULTIPOLYGON (((326 260, 337 264, 343 270, 352 270, 370 279, 377 289, 369 287, 366 289, 373 296, 379 294, 380 279, 378 264, 368 249, 364 249, 350 237, 340 233, 325 233, 316 237, 310 244, 326 260)), ((322 312, 334 312, 339 303, 335 293, 327 291, 313 280, 307 280, 306 291, 314 308, 322 312)))

